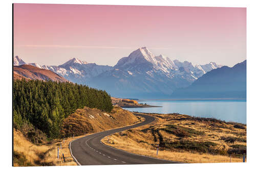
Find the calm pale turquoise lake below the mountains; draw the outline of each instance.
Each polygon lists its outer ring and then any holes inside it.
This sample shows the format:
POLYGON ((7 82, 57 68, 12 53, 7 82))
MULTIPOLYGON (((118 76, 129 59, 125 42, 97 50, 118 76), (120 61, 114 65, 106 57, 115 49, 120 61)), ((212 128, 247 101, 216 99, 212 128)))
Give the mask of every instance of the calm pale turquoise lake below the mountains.
POLYGON ((139 100, 151 108, 124 108, 145 113, 180 113, 246 124, 246 100, 139 100))

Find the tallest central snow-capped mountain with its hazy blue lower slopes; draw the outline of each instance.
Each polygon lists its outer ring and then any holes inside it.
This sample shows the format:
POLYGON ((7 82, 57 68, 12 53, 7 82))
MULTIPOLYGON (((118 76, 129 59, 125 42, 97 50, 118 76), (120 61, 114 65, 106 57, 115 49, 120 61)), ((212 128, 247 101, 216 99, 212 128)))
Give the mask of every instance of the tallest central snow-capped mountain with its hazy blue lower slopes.
POLYGON ((91 78, 88 85, 104 89, 114 96, 163 98, 177 88, 189 86, 207 71, 187 61, 179 62, 179 65, 176 63, 163 55, 154 56, 146 47, 141 47, 121 58, 113 69, 91 78))

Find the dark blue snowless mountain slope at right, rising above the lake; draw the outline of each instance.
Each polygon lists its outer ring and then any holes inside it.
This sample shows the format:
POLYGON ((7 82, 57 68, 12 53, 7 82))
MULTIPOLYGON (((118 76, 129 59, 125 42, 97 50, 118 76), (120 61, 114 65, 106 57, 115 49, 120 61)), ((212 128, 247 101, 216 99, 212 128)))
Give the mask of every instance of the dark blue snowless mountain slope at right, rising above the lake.
POLYGON ((174 91, 171 97, 246 99, 246 60, 231 68, 211 70, 190 86, 174 91))

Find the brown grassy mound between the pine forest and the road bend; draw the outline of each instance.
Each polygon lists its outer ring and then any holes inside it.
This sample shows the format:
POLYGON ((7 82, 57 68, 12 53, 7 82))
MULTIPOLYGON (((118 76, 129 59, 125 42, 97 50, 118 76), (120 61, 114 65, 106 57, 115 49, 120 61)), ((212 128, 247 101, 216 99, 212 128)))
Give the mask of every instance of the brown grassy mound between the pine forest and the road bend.
POLYGON ((62 123, 63 136, 84 135, 138 122, 138 118, 127 110, 114 107, 111 113, 84 107, 67 117, 62 123))

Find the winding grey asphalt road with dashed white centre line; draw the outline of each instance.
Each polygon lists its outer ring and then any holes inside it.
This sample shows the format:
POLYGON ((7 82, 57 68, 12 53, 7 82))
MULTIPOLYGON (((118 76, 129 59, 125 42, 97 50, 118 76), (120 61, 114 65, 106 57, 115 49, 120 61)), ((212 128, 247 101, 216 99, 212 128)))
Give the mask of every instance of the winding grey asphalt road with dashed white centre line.
POLYGON ((78 165, 116 165, 116 164, 164 164, 181 163, 168 161, 147 156, 132 154, 122 150, 115 149, 101 142, 105 136, 127 129, 136 128, 149 124, 155 120, 154 117, 137 114, 145 118, 144 122, 132 126, 126 126, 118 129, 112 129, 81 137, 70 142, 70 152, 78 165))

